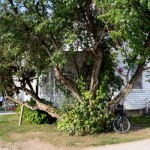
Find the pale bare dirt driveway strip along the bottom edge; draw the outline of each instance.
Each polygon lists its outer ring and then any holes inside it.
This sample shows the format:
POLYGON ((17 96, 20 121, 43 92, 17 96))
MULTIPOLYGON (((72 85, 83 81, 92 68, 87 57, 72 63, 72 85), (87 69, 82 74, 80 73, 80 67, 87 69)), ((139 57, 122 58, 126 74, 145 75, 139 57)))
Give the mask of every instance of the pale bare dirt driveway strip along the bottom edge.
POLYGON ((73 147, 55 147, 51 144, 40 141, 39 139, 30 139, 14 144, 6 144, 0 141, 0 150, 149 150, 150 139, 129 142, 123 144, 113 144, 98 147, 73 148, 73 147))

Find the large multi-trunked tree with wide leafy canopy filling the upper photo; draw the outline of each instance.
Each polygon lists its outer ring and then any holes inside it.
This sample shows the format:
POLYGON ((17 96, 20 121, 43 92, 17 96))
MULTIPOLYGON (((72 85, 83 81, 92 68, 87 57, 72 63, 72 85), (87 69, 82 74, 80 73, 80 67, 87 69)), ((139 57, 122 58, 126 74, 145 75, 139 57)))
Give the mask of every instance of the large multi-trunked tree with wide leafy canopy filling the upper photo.
POLYGON ((78 101, 83 100, 82 88, 77 82, 81 77, 85 90, 92 95, 90 98, 101 95, 100 99, 104 99, 112 96, 110 89, 119 89, 122 84, 115 75, 115 70, 122 74, 117 69, 115 54, 122 54, 128 70, 122 75, 127 82, 110 103, 113 111, 131 92, 149 62, 148 6, 148 1, 138 0, 0 1, 2 89, 17 94, 23 90, 35 99, 37 106, 33 109, 59 117, 54 107, 42 103, 31 81, 38 80, 52 68, 57 81, 78 101), (124 42, 128 49, 121 48, 124 42), (64 67, 68 61, 72 61, 71 70, 64 67), (129 79, 134 63, 138 67, 129 79), (18 78, 19 86, 15 85, 14 76, 18 78))

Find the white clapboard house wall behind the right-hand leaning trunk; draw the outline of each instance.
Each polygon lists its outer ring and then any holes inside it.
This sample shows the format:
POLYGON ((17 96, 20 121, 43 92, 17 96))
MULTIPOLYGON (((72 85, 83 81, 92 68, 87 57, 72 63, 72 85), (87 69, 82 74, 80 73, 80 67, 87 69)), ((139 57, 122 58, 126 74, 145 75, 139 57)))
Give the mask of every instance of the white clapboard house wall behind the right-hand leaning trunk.
MULTIPOLYGON (((122 68, 122 73, 126 74, 127 70, 125 68, 125 64, 123 63, 123 58, 121 55, 118 56, 118 66, 122 68)), ((150 63, 147 65, 150 67, 150 63)), ((129 78, 132 77, 133 73, 136 71, 136 66, 131 68, 129 72, 129 78)), ((129 95, 125 98, 124 107, 126 110, 142 110, 147 106, 150 107, 150 82, 148 82, 148 78, 150 77, 150 71, 145 70, 142 73, 142 76, 139 78, 133 90, 129 95)), ((122 77, 124 82, 126 83, 125 77, 122 77)), ((117 92, 116 92, 117 94, 117 92)))

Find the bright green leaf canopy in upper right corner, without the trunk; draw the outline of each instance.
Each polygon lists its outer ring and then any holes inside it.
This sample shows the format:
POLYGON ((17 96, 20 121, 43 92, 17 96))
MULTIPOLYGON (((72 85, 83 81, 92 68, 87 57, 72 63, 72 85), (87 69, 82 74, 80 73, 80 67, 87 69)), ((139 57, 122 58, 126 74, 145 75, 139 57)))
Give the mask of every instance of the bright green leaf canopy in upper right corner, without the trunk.
POLYGON ((126 42, 126 51, 121 51, 125 63, 134 64, 149 59, 150 53, 145 45, 150 30, 150 9, 148 0, 105 0, 100 15, 105 20, 113 41, 120 46, 126 42), (141 59, 137 56, 140 55, 141 59))

